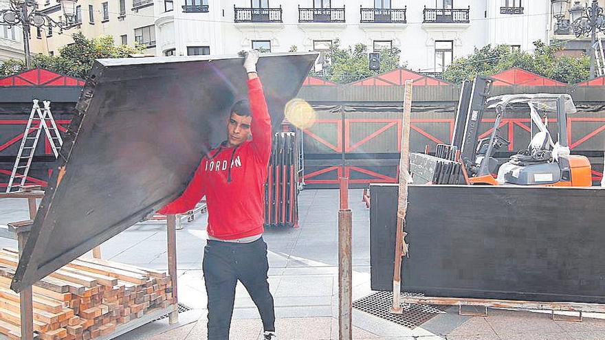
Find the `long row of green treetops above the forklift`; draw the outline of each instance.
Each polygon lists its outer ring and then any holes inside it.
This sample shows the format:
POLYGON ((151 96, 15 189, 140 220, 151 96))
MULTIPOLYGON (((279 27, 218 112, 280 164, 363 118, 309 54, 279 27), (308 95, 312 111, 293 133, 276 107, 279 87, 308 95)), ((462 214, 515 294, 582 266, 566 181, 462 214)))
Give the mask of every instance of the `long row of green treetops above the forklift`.
POLYGON ((588 56, 562 56, 560 52, 563 44, 560 41, 554 41, 551 45, 536 41, 533 45, 533 53, 514 51, 507 45, 487 45, 475 49, 474 54, 454 60, 443 72, 443 78, 457 84, 478 74, 491 76, 512 67, 519 67, 560 82, 577 83, 588 79, 588 56))

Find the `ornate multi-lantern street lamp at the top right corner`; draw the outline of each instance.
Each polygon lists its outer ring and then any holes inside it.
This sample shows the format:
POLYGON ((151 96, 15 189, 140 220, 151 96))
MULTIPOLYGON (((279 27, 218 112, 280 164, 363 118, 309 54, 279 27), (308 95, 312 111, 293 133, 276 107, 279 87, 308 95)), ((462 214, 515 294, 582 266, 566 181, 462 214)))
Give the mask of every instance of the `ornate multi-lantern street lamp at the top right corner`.
MULTIPOLYGON (((591 48, 595 47, 597 31, 605 31, 605 15, 603 8, 599 7, 597 0, 593 0, 589 7, 584 8, 580 1, 575 1, 569 10, 571 15, 571 29, 577 38, 591 34, 591 48)), ((591 53, 591 79, 595 78, 595 54, 591 53)))

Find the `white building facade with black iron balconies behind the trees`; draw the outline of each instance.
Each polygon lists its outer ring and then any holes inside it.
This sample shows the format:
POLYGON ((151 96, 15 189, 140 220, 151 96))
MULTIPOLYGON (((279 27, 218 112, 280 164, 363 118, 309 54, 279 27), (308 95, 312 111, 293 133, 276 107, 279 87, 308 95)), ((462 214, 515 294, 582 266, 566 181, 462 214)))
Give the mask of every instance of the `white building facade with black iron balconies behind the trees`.
POLYGON ((398 47, 408 68, 441 72, 475 47, 531 50, 551 37, 550 0, 173 1, 155 3, 158 56, 321 51, 338 39, 398 47))

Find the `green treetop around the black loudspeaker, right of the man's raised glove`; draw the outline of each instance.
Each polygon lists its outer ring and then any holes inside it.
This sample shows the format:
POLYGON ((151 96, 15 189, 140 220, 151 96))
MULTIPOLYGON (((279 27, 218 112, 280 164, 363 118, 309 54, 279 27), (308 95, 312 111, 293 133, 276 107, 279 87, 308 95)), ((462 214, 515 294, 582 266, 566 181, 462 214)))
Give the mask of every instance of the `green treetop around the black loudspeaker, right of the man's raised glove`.
POLYGON ((402 67, 399 62, 401 50, 397 47, 380 51, 380 69, 369 69, 368 47, 357 44, 353 47, 340 47, 340 41, 333 41, 329 51, 325 52, 325 67, 322 71, 311 71, 311 76, 322 76, 332 82, 346 84, 380 73, 402 67))

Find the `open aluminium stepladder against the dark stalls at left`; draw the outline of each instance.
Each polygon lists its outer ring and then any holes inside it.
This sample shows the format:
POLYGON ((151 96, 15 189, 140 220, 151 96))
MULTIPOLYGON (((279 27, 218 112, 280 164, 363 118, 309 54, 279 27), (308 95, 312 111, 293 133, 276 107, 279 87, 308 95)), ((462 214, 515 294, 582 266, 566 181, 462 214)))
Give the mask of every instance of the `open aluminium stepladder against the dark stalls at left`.
POLYGON ((28 179, 28 173, 32 166, 32 159, 34 159, 34 152, 36 152, 42 130, 45 131, 54 157, 58 157, 59 150, 63 145, 63 139, 50 111, 50 101, 43 101, 44 109, 41 109, 39 100, 34 99, 33 101, 32 113, 30 113, 28 125, 25 126, 19 153, 17 153, 17 159, 14 161, 6 192, 19 192, 23 189, 25 181, 28 179))

